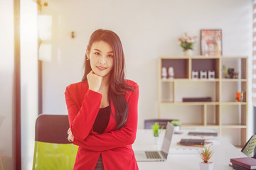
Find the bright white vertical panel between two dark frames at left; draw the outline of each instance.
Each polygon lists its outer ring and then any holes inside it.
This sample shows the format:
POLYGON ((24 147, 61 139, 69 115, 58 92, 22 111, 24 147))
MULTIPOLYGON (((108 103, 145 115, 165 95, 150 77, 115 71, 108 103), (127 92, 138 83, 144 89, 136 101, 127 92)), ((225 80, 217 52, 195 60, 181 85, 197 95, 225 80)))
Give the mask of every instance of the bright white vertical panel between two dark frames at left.
POLYGON ((37 4, 21 0, 21 169, 32 169, 38 116, 37 4))

